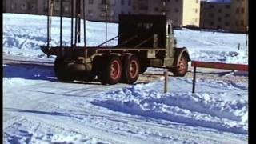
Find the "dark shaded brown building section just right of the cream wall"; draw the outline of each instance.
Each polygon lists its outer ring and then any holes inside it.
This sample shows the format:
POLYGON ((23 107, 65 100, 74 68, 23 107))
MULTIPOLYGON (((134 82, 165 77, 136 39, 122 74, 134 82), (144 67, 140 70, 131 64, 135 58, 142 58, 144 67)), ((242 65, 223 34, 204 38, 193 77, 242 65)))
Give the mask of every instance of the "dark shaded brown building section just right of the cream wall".
POLYGON ((230 30, 230 2, 201 2, 200 27, 230 30))

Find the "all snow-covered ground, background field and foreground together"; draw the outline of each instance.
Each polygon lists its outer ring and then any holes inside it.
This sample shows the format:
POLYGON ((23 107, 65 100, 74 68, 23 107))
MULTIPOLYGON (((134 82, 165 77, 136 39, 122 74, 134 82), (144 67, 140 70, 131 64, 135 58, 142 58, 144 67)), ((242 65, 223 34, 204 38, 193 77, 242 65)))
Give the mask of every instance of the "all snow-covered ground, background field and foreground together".
MULTIPOLYGON (((3 14, 4 143, 247 143, 248 81, 241 72, 215 72, 197 79, 169 77, 135 85, 102 86, 99 82, 57 82, 52 62, 39 46, 46 44, 46 17, 3 14), (12 59, 13 62, 6 59, 12 59), (15 62, 16 61, 16 62, 15 62), (222 80, 222 78, 227 80, 222 80), (240 80, 241 79, 241 80, 240 80), (235 81, 234 81, 235 80, 235 81)), ((54 18, 53 45, 58 44, 54 18)), ((66 26, 70 19, 64 18, 66 26)), ((104 42, 105 25, 87 23, 89 46, 104 42)), ((83 31, 83 30, 82 30, 83 31)), ((118 25, 109 24, 109 38, 118 25)), ((194 60, 247 63, 246 34, 174 30, 178 46, 194 60), (237 45, 241 43, 242 50, 237 45)), ((66 45, 69 30, 64 29, 66 45)), ((114 43, 112 43, 114 45, 114 43)), ((146 73, 162 72, 148 69, 146 73)), ((141 78, 148 76, 141 75, 141 78)))

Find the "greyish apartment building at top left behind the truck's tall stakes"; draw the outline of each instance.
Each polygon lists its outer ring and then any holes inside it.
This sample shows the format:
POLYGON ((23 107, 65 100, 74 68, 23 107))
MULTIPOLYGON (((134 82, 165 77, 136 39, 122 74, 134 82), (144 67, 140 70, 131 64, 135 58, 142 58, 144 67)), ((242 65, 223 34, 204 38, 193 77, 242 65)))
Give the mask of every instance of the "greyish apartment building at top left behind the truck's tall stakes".
MULTIPOLYGON (((60 0, 53 0, 53 3, 53 15, 58 16, 60 0)), ((6 13, 48 14, 47 0, 7 0, 3 7, 6 13)), ((85 7, 88 20, 118 22, 119 14, 131 13, 132 2, 131 0, 85 0, 85 7)), ((70 17, 70 14, 71 0, 63 0, 63 15, 70 17)))

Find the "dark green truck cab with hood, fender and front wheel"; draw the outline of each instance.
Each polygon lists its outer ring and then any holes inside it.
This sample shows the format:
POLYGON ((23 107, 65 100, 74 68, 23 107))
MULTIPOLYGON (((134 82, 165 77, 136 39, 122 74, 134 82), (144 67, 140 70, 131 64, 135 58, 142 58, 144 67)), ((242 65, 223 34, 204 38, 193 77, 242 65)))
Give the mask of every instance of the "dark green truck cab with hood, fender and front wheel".
POLYGON ((188 51, 176 46, 172 21, 166 15, 120 15, 118 34, 120 47, 149 49, 140 57, 141 73, 146 67, 162 66, 176 76, 186 74, 188 51))

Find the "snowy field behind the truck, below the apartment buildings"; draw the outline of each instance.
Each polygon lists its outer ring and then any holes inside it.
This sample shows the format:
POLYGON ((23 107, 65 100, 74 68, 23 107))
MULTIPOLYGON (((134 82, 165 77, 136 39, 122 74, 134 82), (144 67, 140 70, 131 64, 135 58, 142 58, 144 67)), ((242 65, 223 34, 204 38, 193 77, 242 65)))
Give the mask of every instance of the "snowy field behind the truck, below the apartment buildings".
MULTIPOLYGON (((46 45, 46 16, 25 14, 3 14, 3 50, 6 54, 19 54, 32 58, 46 58, 39 49, 46 45)), ((63 44, 70 46, 70 18, 63 18, 63 44)), ((83 35, 83 27, 82 27, 83 35)), ((108 38, 118 35, 118 24, 108 24, 108 38)), ((59 18, 52 22, 52 46, 59 43, 59 18)), ((178 47, 185 46, 193 60, 248 63, 246 55, 246 34, 229 34, 195 30, 174 30, 178 47), (240 43, 240 50, 238 44, 240 43)), ((86 22, 88 46, 105 42, 105 23, 86 22)), ((83 42, 83 39, 82 41, 83 42)), ((118 41, 111 42, 116 45, 118 41)), ((82 44, 81 44, 82 45, 82 44)))

